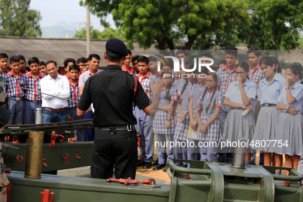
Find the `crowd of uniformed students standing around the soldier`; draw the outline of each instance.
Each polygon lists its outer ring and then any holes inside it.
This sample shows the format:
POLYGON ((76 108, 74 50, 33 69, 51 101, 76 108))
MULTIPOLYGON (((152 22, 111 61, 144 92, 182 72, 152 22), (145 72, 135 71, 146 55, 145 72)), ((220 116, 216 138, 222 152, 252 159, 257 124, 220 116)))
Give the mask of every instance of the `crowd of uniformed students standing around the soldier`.
MULTIPOLYGON (((158 72, 157 58, 132 56, 129 50, 128 53, 122 69, 138 77, 149 97, 159 96, 159 107, 153 117, 134 108, 135 128, 143 148, 143 159, 137 166, 152 167, 155 133, 160 147, 154 170, 166 171, 167 160, 171 158, 230 162, 232 153, 218 153, 217 147, 205 143, 236 141, 238 137, 245 137, 253 143, 248 144, 246 164, 255 164, 255 151, 259 150, 259 164, 263 164, 264 159, 267 166, 282 166, 282 154, 285 154, 286 167, 298 168, 303 145, 303 70, 299 63, 286 67, 284 77, 276 57, 261 57, 260 50, 253 48, 247 51, 249 66, 246 62, 237 63, 236 48, 227 48, 225 61, 218 64, 217 71, 210 72, 204 67, 200 72, 195 70, 189 77, 183 77, 181 75, 188 72, 181 66, 179 72, 173 72, 168 63, 158 72), (150 82, 154 84, 157 78, 164 84, 159 95, 150 90, 150 82), (166 139, 179 145, 191 143, 194 147, 167 148, 166 139), (281 141, 282 146, 269 145, 268 140, 281 141)), ((188 54, 185 50, 179 50, 176 56, 180 62, 181 58, 184 59, 186 69, 193 68, 193 64, 186 61, 188 54)), ((209 52, 200 56, 212 58, 209 52)), ((86 80, 102 71, 98 70, 99 61, 97 54, 64 61, 65 76, 70 84, 69 99, 78 102, 86 80)), ((210 63, 209 60, 201 62, 210 63)), ((41 91, 40 81, 52 71, 47 67, 49 62, 32 57, 27 64, 30 72, 25 69, 26 60, 22 55, 11 56, 11 71, 8 71, 8 56, 1 53, 0 70, 4 83, 41 91)), ((42 106, 43 95, 14 86, 5 85, 12 110, 10 124, 33 124, 34 111, 42 106)), ((68 120, 79 118, 76 117, 76 106, 75 102, 68 102, 68 120)), ((92 117, 92 114, 85 118, 92 117)), ((77 131, 78 140, 93 140, 93 133, 93 130, 77 131)), ((190 167, 182 162, 178 165, 190 167)), ((276 174, 280 171, 277 170, 276 174)))

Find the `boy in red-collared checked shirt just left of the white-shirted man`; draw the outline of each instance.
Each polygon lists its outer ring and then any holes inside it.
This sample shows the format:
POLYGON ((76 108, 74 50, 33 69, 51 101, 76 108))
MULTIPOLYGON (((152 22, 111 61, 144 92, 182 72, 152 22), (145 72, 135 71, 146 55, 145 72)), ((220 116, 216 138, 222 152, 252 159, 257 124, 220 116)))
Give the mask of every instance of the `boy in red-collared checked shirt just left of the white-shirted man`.
MULTIPOLYGON (((39 72, 39 59, 31 57, 28 60, 30 72, 24 74, 25 88, 35 91, 41 91, 40 80, 46 76, 39 72)), ((26 90, 24 99, 24 124, 34 124, 36 109, 41 108, 42 98, 41 93, 26 90)))

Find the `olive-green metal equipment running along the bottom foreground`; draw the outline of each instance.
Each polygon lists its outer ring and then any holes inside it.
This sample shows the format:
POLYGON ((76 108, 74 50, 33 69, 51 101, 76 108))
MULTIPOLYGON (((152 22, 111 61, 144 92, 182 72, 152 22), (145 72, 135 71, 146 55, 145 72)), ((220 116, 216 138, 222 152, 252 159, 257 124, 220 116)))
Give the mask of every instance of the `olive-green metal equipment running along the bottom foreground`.
POLYGON ((168 161, 171 184, 157 186, 107 183, 105 179, 42 174, 24 177, 24 172, 7 174, 11 182, 10 201, 42 201, 49 190, 53 201, 303 201, 303 176, 292 168, 247 166, 195 160, 168 161), (185 161, 190 168, 175 165, 185 161), (276 169, 289 175, 275 175, 276 169), (284 184, 289 181, 289 186, 284 184), (299 183, 298 183, 299 182, 299 183))

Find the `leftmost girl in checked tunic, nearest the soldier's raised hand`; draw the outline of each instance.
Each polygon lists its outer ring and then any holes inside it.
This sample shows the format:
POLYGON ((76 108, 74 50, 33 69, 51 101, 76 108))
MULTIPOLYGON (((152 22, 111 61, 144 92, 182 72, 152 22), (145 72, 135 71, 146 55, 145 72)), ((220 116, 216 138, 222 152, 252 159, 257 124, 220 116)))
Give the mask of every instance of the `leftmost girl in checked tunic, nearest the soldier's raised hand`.
MULTIPOLYGON (((153 133, 157 135, 158 147, 158 165, 153 167, 153 170, 161 168, 166 171, 166 136, 169 142, 173 142, 174 123, 172 118, 173 104, 176 100, 174 89, 171 86, 170 72, 164 71, 161 73, 161 81, 163 82, 163 90, 159 98, 159 106, 153 120, 153 133)), ((174 158, 172 148, 168 148, 167 160, 174 158)))

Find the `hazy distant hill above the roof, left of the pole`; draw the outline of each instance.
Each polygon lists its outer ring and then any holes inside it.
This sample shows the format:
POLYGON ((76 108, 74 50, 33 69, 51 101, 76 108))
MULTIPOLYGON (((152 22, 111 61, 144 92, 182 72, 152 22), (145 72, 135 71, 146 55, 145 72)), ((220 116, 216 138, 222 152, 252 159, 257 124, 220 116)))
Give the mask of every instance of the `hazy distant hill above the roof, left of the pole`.
MULTIPOLYGON (((66 22, 59 22, 55 26, 41 27, 42 38, 72 38, 78 30, 78 24, 67 24, 66 22)), ((85 25, 82 24, 81 27, 85 25)))

